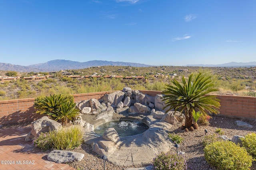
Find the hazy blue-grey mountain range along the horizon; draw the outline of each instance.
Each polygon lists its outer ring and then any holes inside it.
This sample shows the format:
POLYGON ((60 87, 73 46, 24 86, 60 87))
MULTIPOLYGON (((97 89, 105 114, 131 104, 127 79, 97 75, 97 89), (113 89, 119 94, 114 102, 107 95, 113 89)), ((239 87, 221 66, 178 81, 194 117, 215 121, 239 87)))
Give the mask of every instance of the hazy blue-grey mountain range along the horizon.
MULTIPOLYGON (((70 60, 52 60, 46 63, 33 64, 29 66, 20 66, 8 63, 0 63, 0 70, 10 70, 17 72, 51 72, 59 70, 71 70, 71 69, 82 69, 89 68, 92 66, 134 66, 134 67, 149 67, 152 65, 139 64, 139 63, 128 63, 128 62, 114 62, 114 61, 102 61, 93 60, 87 62, 78 62, 70 60)), ((256 62, 248 63, 225 63, 225 64, 189 64, 186 66, 201 66, 201 67, 250 67, 256 66, 256 62)))

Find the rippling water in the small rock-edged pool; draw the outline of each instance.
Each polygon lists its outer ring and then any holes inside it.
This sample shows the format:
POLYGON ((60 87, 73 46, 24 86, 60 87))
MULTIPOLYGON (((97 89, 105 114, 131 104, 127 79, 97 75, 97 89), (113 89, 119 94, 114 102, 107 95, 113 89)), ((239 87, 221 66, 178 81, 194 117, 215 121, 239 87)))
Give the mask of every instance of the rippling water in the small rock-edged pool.
POLYGON ((148 129, 148 126, 140 121, 119 120, 99 125, 94 129, 94 132, 98 135, 102 135, 109 127, 114 127, 120 137, 138 135, 148 129))

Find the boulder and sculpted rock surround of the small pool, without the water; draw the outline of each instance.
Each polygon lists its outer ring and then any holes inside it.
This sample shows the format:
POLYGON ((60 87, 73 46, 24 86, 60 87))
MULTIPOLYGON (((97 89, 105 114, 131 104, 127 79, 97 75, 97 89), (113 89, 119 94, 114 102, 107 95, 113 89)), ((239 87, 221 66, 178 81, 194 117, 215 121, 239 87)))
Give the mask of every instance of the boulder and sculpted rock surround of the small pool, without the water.
MULTIPOLYGON (((185 116, 174 111, 164 113, 162 95, 149 96, 138 90, 124 88, 112 94, 105 94, 100 100, 85 100, 77 104, 84 123, 84 142, 109 162, 118 166, 141 165, 152 162, 156 154, 167 152, 174 144, 168 139, 168 129, 184 123, 185 116), (90 108, 90 109, 89 109, 90 108), (131 136, 120 136, 113 127, 102 135, 97 128, 111 121, 124 120, 143 122, 148 129, 131 136), (99 133, 99 132, 98 132, 99 133)), ((78 121, 82 120, 78 119, 78 121)), ((83 125, 83 123, 81 123, 83 125)))

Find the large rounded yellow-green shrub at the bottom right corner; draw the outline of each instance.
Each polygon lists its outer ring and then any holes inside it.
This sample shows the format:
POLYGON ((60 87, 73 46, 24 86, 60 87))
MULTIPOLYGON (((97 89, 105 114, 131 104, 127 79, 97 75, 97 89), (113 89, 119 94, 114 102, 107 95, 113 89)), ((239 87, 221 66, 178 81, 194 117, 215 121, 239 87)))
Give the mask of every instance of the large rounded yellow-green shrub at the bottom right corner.
POLYGON ((204 148, 206 161, 218 170, 249 170, 253 158, 231 141, 217 141, 204 148))

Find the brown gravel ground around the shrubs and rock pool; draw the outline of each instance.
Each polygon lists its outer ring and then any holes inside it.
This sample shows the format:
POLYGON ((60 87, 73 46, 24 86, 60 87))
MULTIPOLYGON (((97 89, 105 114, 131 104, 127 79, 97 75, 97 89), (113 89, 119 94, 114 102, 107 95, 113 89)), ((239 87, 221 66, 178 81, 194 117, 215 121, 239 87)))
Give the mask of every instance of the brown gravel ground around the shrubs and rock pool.
MULTIPOLYGON (((238 127, 236 125, 237 120, 241 119, 212 116, 212 119, 210 119, 210 125, 201 125, 199 126, 198 129, 192 132, 186 132, 178 126, 169 129, 170 133, 174 132, 184 139, 180 144, 179 150, 185 152, 188 170, 216 170, 215 168, 211 167, 204 158, 204 146, 202 144, 202 141, 204 139, 205 129, 208 130, 208 133, 215 133, 216 129, 220 128, 222 131, 224 131, 224 135, 226 135, 230 139, 232 139, 234 135, 245 136, 247 133, 256 133, 256 121, 242 120, 254 126, 252 129, 246 129, 238 127)), ((70 165, 73 166, 74 168, 78 170, 104 169, 103 160, 100 158, 98 154, 92 151, 91 146, 84 144, 73 151, 85 154, 84 158, 80 162, 70 163, 70 165)), ((173 151, 175 152, 176 148, 174 148, 173 151)), ((150 164, 141 165, 139 167, 148 165, 150 164)), ((105 164, 106 170, 126 170, 127 168, 136 168, 136 166, 116 166, 108 161, 106 161, 105 164)), ((251 170, 256 170, 256 161, 254 161, 251 170)))

